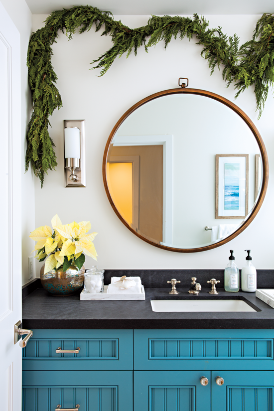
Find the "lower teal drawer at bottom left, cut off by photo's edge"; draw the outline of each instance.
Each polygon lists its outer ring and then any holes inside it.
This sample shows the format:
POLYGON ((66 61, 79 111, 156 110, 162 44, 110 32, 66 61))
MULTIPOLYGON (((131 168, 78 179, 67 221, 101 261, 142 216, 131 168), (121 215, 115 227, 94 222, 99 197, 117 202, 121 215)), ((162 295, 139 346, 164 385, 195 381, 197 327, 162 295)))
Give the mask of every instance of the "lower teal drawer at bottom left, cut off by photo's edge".
POLYGON ((132 411, 132 371, 23 371, 22 411, 132 411))

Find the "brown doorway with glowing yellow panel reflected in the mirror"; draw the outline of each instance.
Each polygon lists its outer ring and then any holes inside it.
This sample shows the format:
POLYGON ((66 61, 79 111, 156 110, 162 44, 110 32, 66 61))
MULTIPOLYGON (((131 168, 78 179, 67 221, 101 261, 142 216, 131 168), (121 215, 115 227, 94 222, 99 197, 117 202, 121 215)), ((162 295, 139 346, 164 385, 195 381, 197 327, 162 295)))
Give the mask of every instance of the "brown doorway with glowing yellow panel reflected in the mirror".
POLYGON ((163 145, 114 146, 111 154, 108 181, 118 211, 137 232, 162 242, 163 145))

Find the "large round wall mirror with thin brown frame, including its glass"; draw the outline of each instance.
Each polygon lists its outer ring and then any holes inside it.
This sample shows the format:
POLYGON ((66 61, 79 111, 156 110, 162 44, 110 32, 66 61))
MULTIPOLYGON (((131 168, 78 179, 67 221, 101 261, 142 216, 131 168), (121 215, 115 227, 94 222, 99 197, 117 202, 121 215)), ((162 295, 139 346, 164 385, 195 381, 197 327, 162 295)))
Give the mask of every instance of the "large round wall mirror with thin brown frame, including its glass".
POLYGON ((171 89, 121 117, 106 145, 103 178, 129 230, 189 253, 221 246, 251 223, 266 194, 268 158, 235 104, 204 90, 171 89))

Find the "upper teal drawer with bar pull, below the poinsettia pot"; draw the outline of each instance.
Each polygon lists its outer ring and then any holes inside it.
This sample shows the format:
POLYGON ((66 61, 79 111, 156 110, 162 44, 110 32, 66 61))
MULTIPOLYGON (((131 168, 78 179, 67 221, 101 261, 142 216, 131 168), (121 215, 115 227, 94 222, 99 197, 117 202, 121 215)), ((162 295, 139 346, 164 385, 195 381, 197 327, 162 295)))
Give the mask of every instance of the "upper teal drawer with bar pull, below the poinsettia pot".
POLYGON ((22 355, 23 370, 132 370, 133 330, 33 330, 22 355))

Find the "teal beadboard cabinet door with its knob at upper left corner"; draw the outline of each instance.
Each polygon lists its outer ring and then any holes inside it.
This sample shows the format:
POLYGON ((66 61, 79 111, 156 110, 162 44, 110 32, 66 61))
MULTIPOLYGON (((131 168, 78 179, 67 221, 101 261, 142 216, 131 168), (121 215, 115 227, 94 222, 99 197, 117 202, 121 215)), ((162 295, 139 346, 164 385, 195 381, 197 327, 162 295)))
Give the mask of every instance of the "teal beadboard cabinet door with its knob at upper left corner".
POLYGON ((273 411, 274 371, 212 371, 211 392, 212 411, 273 411))

